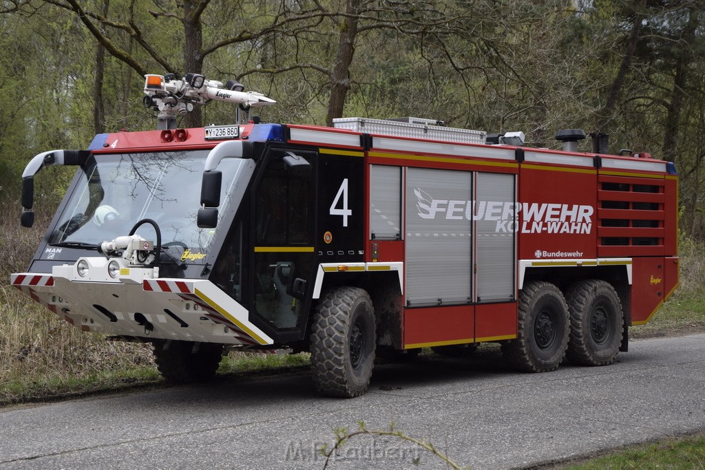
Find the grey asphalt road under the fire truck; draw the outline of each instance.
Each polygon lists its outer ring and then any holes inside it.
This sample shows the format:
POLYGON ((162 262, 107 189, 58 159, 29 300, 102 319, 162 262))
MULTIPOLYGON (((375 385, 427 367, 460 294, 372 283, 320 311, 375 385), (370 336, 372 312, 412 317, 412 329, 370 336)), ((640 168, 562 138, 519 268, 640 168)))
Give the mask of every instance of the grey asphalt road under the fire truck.
MULTIPOLYGON (((321 469, 316 448, 358 420, 394 421, 474 469, 705 430, 705 335, 632 342, 618 359, 525 374, 481 348, 472 360, 376 367, 353 400, 317 397, 299 374, 14 407, 0 410, 0 469, 321 469)), ((396 438, 362 436, 329 468, 446 466, 396 438)))

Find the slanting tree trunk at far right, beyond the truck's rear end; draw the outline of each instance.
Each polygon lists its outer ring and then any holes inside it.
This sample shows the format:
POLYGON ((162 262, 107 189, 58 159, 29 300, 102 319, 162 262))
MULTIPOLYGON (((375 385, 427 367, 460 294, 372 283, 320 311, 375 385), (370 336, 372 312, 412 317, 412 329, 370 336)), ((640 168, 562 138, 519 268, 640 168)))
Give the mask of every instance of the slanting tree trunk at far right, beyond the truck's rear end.
MULTIPOLYGON (((699 11, 691 7, 688 10, 689 18, 683 28, 680 42, 683 44, 694 44, 695 31, 699 23, 699 11)), ((692 58, 692 48, 689 46, 678 49, 678 58, 675 62, 675 78, 673 79, 673 92, 670 95, 668 104, 668 115, 664 126, 663 136, 663 159, 673 161, 678 147, 678 132, 680 131, 680 109, 685 97, 685 86, 688 78, 688 66, 692 58)))

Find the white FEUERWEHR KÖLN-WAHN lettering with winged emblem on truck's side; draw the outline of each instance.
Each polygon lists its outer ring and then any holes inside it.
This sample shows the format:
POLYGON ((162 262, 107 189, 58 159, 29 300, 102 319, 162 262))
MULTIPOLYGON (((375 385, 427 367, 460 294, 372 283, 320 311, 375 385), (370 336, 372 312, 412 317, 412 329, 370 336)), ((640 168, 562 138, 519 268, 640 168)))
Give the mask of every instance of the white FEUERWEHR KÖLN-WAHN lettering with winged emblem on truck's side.
POLYGON ((417 214, 421 218, 448 221, 496 221, 497 233, 590 233, 593 206, 538 202, 460 201, 434 199, 415 188, 417 214), (519 224, 519 214, 524 220, 519 224))

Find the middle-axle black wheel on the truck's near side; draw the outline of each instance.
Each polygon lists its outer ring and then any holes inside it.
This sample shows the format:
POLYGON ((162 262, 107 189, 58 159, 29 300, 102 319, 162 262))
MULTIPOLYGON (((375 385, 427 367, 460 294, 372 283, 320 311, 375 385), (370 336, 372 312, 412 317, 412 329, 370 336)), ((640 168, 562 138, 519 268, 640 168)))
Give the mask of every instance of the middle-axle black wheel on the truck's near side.
POLYGON ((502 352, 516 369, 548 372, 558 368, 568 347, 568 305, 551 283, 527 283, 519 297, 517 339, 502 352))

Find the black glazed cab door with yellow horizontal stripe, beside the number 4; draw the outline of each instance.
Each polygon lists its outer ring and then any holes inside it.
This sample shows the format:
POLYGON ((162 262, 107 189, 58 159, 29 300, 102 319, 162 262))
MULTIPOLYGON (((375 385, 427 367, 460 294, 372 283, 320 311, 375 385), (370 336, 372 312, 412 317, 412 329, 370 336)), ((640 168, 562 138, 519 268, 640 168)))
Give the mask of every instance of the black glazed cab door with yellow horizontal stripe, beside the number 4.
POLYGON ((316 154, 270 149, 252 191, 252 321, 278 341, 305 329, 314 273, 316 154))

